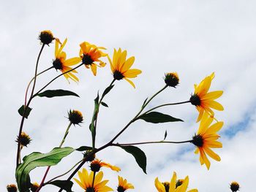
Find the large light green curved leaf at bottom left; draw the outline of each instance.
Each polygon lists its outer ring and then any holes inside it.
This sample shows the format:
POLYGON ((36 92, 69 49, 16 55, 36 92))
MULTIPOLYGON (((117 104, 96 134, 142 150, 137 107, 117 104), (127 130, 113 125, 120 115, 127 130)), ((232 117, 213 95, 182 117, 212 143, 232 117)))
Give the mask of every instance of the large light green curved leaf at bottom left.
POLYGON ((18 190, 20 192, 29 192, 30 177, 29 172, 35 169, 37 166, 53 166, 59 163, 62 158, 72 153, 74 149, 72 147, 56 147, 49 153, 34 152, 30 155, 26 155, 23 158, 23 163, 19 164, 15 177, 18 184, 18 190))

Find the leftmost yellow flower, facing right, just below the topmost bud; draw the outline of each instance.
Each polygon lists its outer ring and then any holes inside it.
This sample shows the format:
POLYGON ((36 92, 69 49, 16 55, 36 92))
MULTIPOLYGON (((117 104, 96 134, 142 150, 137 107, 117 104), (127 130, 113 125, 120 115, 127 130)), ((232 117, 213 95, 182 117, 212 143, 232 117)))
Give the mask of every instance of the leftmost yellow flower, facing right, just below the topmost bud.
MULTIPOLYGON (((66 43, 67 43, 67 38, 64 40, 63 44, 60 47, 59 47, 59 41, 56 41, 55 43, 55 60, 53 61, 53 66, 56 70, 59 69, 62 73, 68 72, 69 70, 72 69, 69 66, 78 64, 81 61, 81 59, 78 57, 69 58, 66 60, 67 55, 64 51, 62 51, 66 43)), ((73 73, 77 73, 77 71, 73 70, 71 72, 65 73, 64 77, 66 77, 67 80, 70 78, 71 80, 78 82, 78 77, 76 77, 75 74, 73 73)))

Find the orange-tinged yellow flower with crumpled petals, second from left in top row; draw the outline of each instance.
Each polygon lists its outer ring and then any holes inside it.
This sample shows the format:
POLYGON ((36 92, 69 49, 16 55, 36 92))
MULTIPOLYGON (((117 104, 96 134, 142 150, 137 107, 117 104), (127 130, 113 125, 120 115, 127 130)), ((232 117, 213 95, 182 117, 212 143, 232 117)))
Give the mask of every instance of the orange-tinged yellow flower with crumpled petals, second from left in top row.
POLYGON ((102 52, 102 50, 105 49, 105 47, 91 45, 89 42, 82 42, 80 44, 80 58, 87 69, 89 69, 91 66, 91 72, 94 74, 94 76, 97 74, 97 66, 105 66, 105 63, 99 59, 108 55, 102 52), (99 65, 97 65, 95 62, 99 62, 99 65))

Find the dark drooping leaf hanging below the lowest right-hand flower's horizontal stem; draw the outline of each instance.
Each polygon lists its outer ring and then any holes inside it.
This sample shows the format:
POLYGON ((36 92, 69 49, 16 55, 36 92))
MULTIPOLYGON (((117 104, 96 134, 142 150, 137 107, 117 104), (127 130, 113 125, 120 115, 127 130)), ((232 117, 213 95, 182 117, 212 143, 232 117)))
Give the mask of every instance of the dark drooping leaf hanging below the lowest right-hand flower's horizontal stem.
POLYGON ((121 147, 127 153, 132 154, 138 166, 140 166, 140 168, 143 169, 143 172, 146 173, 147 158, 143 150, 140 150, 140 148, 135 146, 119 146, 119 147, 121 147))

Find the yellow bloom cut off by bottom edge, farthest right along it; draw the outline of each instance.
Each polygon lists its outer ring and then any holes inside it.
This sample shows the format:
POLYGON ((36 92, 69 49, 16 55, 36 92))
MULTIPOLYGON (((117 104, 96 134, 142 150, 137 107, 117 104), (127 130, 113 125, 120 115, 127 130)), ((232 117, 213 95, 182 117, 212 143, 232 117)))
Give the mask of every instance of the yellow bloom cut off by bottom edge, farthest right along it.
POLYGON ((187 191, 187 187, 189 185, 189 177, 187 176, 181 185, 176 185, 177 175, 176 172, 173 172, 173 177, 170 180, 170 183, 165 182, 161 183, 158 180, 158 177, 156 180, 154 180, 154 185, 157 188, 158 192, 197 192, 197 189, 192 189, 187 191))

